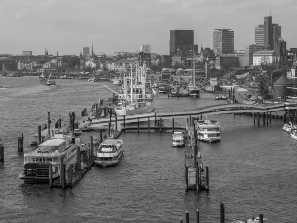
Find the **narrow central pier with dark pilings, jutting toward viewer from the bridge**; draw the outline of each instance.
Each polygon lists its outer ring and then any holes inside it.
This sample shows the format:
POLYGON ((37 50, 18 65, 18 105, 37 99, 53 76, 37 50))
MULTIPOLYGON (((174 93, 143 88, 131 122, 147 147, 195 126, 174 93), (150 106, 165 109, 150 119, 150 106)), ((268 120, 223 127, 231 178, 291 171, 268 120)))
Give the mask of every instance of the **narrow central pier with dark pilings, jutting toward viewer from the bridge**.
POLYGON ((203 166, 195 123, 188 126, 185 144, 185 190, 209 190, 208 167, 203 166))

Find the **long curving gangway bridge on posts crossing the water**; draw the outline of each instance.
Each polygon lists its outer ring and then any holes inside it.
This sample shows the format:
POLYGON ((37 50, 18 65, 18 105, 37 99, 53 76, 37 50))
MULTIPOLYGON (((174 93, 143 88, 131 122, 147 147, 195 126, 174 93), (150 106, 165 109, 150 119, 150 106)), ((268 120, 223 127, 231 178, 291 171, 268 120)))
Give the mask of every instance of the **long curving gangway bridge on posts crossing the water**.
POLYGON ((92 119, 89 122, 89 129, 96 129, 100 126, 107 126, 109 122, 111 125, 126 124, 126 123, 135 123, 143 122, 149 120, 168 120, 172 118, 182 119, 206 115, 216 115, 216 114, 228 114, 235 112, 255 112, 255 113, 266 113, 266 112, 277 112, 277 111, 288 111, 296 110, 297 102, 278 102, 271 104, 219 104, 205 106, 191 111, 171 111, 171 112, 151 112, 135 115, 124 115, 124 116, 115 116, 108 118, 98 118, 92 119))

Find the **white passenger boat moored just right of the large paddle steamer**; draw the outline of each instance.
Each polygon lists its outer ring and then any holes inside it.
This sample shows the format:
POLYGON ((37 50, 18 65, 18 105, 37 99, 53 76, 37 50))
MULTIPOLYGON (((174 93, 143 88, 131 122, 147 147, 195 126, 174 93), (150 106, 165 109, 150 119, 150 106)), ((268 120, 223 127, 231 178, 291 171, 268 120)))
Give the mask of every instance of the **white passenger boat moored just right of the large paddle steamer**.
POLYGON ((117 164, 123 155, 123 141, 109 138, 99 146, 94 162, 102 167, 107 167, 117 164))

